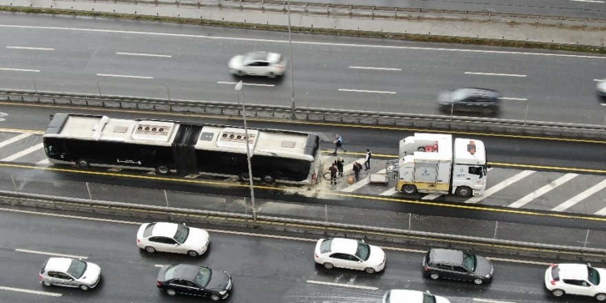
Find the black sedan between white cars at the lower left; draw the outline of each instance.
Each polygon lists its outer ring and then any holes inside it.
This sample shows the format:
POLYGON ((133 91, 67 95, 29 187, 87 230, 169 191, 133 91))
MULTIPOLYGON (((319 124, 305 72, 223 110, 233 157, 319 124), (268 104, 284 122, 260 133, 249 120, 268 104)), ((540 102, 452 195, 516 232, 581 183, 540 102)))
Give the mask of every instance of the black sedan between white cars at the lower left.
POLYGON ((231 291, 231 275, 198 265, 165 265, 158 273, 156 286, 168 295, 183 293, 210 297, 213 301, 225 299, 231 291))

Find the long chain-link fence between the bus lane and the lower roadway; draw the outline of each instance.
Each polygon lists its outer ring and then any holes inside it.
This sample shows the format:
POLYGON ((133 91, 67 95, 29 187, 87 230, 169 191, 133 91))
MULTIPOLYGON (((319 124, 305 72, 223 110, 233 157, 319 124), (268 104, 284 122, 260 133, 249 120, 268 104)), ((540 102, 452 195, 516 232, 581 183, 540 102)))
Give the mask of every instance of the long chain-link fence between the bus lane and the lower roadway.
MULTIPOLYGON (((220 211, 249 216, 252 214, 249 198, 55 180, 40 178, 39 176, 0 176, 0 191, 12 194, 39 195, 48 198, 72 198, 90 202, 149 205, 165 207, 166 209, 220 211)), ((483 239, 606 249, 606 231, 589 229, 567 229, 490 220, 424 216, 396 211, 312 205, 268 199, 256 199, 255 209, 258 216, 404 231, 422 231, 483 239)))

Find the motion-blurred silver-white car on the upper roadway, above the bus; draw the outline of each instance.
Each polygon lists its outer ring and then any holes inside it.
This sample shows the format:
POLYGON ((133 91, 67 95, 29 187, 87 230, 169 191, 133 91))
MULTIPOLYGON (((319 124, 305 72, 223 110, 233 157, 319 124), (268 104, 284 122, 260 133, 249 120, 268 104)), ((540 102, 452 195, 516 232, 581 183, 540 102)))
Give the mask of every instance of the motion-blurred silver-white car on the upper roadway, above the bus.
POLYGON ((286 59, 275 52, 249 52, 229 60, 227 68, 231 74, 238 76, 255 75, 274 78, 286 71, 286 59))

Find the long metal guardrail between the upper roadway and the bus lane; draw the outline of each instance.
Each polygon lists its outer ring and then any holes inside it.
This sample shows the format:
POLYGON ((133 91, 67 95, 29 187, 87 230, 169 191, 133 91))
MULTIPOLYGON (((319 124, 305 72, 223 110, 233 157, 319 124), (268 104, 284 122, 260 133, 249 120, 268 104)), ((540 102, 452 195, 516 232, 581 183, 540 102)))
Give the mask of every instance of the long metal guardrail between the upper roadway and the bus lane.
MULTIPOLYGON (((229 116, 241 116, 242 114, 242 108, 238 103, 171 100, 102 94, 74 94, 69 92, 41 92, 32 90, 0 89, 0 101, 118 107, 229 116)), ((473 131, 499 134, 524 134, 531 136, 542 135, 563 138, 606 139, 606 128, 604 125, 521 121, 500 118, 398 114, 313 107, 296 108, 293 110, 288 106, 256 104, 247 104, 247 116, 301 121, 430 128, 446 131, 473 131)))

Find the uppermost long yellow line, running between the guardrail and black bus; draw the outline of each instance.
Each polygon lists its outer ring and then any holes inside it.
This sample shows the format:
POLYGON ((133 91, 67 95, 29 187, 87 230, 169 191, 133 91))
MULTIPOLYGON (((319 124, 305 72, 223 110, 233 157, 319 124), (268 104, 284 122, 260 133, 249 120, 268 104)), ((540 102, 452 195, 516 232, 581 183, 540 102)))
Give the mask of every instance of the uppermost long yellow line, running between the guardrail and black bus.
MULTIPOLYGON (((1 104, 6 104, 6 101, 0 101, 1 104)), ((31 103, 9 103, 12 106, 29 106, 29 107, 44 107, 44 108, 64 108, 64 109, 82 109, 79 105, 46 105, 46 104, 31 104, 31 103)), ((176 104, 176 103, 175 103, 176 104)), ((194 113, 176 113, 176 112, 150 112, 143 109, 111 109, 105 107, 84 107, 86 110, 94 110, 98 112, 118 112, 118 113, 132 113, 132 114, 145 114, 149 116, 176 116, 186 118, 230 118, 233 120, 242 120, 240 116, 217 116, 212 114, 194 114, 194 113)), ((364 124, 348 124, 348 123, 335 123, 325 121, 297 121, 297 120, 278 120, 275 118, 260 118, 260 117, 247 117, 248 121, 260 121, 270 123, 289 123, 289 124, 300 124, 300 125, 320 125, 320 126, 331 126, 331 127, 350 127, 350 128, 364 128, 364 129, 385 129, 385 130, 398 130, 406 132, 436 132, 435 129, 417 128, 417 127, 397 127, 397 126, 385 126, 385 125, 364 125, 364 124)), ((442 132, 442 131, 441 131, 442 132)), ((591 140, 581 138, 553 138, 547 136, 528 136, 528 135, 514 135, 514 134, 484 134, 479 132, 466 132, 466 131, 443 131, 446 134, 459 134, 459 135, 474 135, 474 136, 485 136, 485 137, 500 137, 500 138, 521 138, 530 140, 548 140, 548 141, 564 141, 564 142, 581 142, 581 143, 600 143, 606 144, 606 140, 591 140)))

